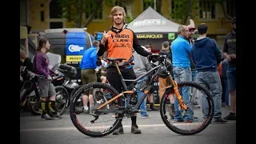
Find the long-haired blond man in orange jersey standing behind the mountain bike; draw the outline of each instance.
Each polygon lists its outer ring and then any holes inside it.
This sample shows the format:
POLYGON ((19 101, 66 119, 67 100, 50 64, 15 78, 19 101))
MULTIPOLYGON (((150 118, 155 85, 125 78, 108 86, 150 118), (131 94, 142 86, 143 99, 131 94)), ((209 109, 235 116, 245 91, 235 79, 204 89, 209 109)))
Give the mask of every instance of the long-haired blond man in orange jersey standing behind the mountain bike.
MULTIPOLYGON (((125 25, 126 11, 121 6, 114 6, 110 12, 110 18, 113 21, 113 26, 109 31, 104 31, 98 50, 98 56, 102 56, 107 51, 108 58, 126 58, 123 62, 131 63, 132 48, 142 56, 148 56, 151 53, 144 50, 139 44, 134 31, 127 29, 125 25)), ((136 79, 134 70, 131 66, 122 68, 120 70, 122 77, 125 79, 136 79)), ((119 78, 118 71, 114 66, 109 66, 106 70, 106 78, 111 86, 113 86, 119 93, 122 93, 122 82, 119 78)), ((126 82, 126 86, 129 86, 131 82, 126 82)), ((124 106, 122 98, 118 98, 118 105, 124 106)), ((116 114, 116 118, 120 118, 121 114, 116 114)), ((141 134, 141 130, 137 126, 137 116, 131 117, 131 133, 141 134)), ((117 130, 114 130, 113 134, 123 134, 122 123, 117 130)))

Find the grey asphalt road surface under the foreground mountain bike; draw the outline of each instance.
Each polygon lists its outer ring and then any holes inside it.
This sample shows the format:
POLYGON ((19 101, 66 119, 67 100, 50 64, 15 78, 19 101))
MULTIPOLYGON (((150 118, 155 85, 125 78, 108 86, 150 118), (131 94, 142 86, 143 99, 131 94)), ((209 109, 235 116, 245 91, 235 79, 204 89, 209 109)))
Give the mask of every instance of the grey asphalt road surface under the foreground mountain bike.
MULTIPOLYGON (((222 108, 222 115, 229 113, 222 108)), ((182 136, 169 130, 162 122, 158 111, 150 111, 150 118, 138 114, 138 126, 142 134, 130 133, 130 118, 123 120, 125 134, 107 135, 103 138, 90 138, 80 133, 70 120, 69 110, 62 119, 42 121, 40 116, 28 112, 20 117, 21 144, 234 144, 236 143, 236 121, 226 124, 210 124, 199 134, 182 136)))

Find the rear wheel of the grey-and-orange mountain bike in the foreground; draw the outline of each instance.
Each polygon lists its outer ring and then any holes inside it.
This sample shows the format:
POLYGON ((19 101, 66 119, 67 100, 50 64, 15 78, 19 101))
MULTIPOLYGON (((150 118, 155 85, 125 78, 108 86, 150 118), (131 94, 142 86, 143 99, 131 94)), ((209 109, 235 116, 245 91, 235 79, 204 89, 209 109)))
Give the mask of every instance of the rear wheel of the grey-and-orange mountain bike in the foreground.
MULTIPOLYGON (((118 124, 122 121, 122 116, 113 118, 114 115, 112 107, 104 106, 101 110, 105 112, 98 112, 98 106, 102 106, 106 102, 106 97, 109 95, 114 97, 118 95, 118 91, 108 84, 95 82, 81 86, 75 91, 70 102, 70 118, 74 126, 82 133, 90 137, 103 137, 118 128, 118 124), (95 94, 95 90, 101 90, 97 98, 98 102, 94 102, 89 110, 83 109, 83 93, 95 94), (110 112, 112 109, 112 112, 110 112)), ((95 96, 93 96, 96 98, 95 96)), ((87 103, 86 103, 87 104, 87 103)))

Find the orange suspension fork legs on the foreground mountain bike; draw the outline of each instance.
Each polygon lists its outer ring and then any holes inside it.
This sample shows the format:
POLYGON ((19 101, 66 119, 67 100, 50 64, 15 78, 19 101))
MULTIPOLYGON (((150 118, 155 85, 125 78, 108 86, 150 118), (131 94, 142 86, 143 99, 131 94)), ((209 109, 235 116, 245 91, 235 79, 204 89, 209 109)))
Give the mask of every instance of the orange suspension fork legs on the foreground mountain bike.
POLYGON ((179 106, 181 106, 182 110, 189 110, 188 106, 186 106, 186 103, 182 99, 182 95, 178 92, 177 82, 171 78, 170 73, 168 74, 167 78, 170 81, 170 85, 173 86, 174 94, 176 94, 176 97, 178 98, 179 106))

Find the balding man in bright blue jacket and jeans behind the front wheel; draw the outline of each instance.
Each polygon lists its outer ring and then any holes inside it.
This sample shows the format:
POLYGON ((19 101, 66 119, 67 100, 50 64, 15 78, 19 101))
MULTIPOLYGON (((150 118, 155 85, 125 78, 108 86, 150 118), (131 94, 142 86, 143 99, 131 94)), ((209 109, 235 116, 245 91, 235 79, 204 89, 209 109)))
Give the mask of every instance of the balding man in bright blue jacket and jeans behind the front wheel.
MULTIPOLYGON (((178 27, 178 38, 172 42, 172 58, 174 66, 174 80, 176 82, 191 81, 192 74, 190 68, 190 55, 191 55, 191 46, 190 43, 186 40, 189 37, 189 29, 187 26, 178 27)), ((183 101, 190 105, 190 88, 182 87, 179 89, 180 94, 182 94, 183 101)), ((194 112, 186 110, 184 118, 182 118, 182 112, 178 110, 178 99, 174 98, 174 122, 195 122, 198 121, 198 118, 194 117, 194 112)))

